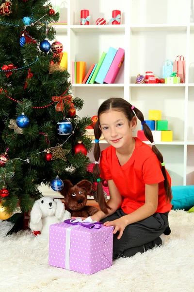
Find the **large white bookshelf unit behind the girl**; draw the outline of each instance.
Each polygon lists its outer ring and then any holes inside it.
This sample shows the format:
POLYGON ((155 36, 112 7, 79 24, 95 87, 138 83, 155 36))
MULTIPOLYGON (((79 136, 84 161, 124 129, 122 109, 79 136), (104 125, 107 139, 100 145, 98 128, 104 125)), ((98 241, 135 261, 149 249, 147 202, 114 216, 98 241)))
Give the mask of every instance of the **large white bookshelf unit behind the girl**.
MULTIPOLYGON (((169 121, 173 142, 156 143, 164 156, 173 185, 194 184, 194 23, 190 19, 190 0, 52 0, 61 3, 56 38, 68 53, 68 72, 72 61, 85 61, 86 72, 110 46, 125 49, 125 62, 114 84, 72 84, 72 94, 83 98, 79 116, 97 114, 99 105, 115 96, 142 110, 162 110, 169 121), (88 9, 90 25, 80 25, 80 11, 88 9), (95 25, 99 17, 108 20, 112 10, 121 10, 121 25, 95 25), (135 84, 138 73, 146 71, 162 77, 166 59, 183 55, 185 84, 135 84)), ((137 130, 141 129, 140 122, 137 130)), ((136 133, 135 133, 136 134, 136 133)), ((100 141, 101 149, 108 146, 100 141)), ((89 153, 93 160, 93 151, 89 153)))

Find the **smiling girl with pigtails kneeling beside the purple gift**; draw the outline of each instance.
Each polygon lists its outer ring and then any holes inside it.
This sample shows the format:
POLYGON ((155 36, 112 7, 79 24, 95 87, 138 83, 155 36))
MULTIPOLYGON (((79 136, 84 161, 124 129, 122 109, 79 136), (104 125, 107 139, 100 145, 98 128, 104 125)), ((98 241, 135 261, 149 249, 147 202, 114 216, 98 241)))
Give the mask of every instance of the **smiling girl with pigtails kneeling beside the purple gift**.
POLYGON ((171 178, 140 110, 122 98, 110 98, 99 107, 97 116, 94 175, 100 210, 91 219, 114 227, 113 259, 134 256, 160 246, 171 233, 171 178), (137 118, 151 147, 131 135, 137 118), (100 155, 101 133, 110 146, 100 155), (101 179, 108 181, 108 202, 101 179))

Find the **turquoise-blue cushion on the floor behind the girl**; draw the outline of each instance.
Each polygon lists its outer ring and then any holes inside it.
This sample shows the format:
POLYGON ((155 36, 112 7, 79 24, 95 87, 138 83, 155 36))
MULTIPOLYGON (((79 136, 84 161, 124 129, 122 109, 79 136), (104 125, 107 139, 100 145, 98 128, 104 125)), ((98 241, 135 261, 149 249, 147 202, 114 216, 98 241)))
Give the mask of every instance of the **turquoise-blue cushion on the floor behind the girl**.
POLYGON ((173 210, 189 210, 194 206, 194 185, 172 186, 173 199, 171 204, 173 210))

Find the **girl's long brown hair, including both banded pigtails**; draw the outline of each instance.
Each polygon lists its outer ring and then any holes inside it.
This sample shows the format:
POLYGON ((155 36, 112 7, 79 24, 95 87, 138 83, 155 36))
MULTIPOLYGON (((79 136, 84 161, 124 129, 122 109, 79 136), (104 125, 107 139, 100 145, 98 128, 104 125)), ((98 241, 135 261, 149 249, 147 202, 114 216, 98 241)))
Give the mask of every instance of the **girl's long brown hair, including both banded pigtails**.
MULTIPOLYGON (((125 114, 126 118, 129 120, 129 122, 132 120, 132 118, 136 115, 137 118, 141 121, 144 122, 144 115, 143 113, 138 110, 137 108, 133 108, 133 110, 131 110, 132 105, 119 97, 113 97, 113 98, 109 98, 107 100, 105 100, 101 106, 98 109, 97 112, 97 116, 98 116, 98 120, 97 123, 95 125, 94 128, 94 134, 95 134, 95 138, 97 140, 99 140, 102 132, 101 129, 99 128, 100 126, 100 122, 99 122, 99 118, 100 118, 100 114, 102 114, 103 112, 106 112, 108 110, 118 110, 121 111, 125 114), (135 112, 135 114, 134 114, 135 112)), ((150 130, 150 128, 146 125, 146 123, 143 124, 143 129, 144 129, 144 134, 146 136, 146 138, 153 143, 154 139, 153 139, 153 135, 152 132, 150 130)), ((158 148, 153 145, 152 146, 152 150, 153 152, 156 154, 156 156, 158 157, 158 160, 160 161, 160 163, 163 163, 163 156, 162 153, 158 150, 158 148)), ((94 147, 94 158, 95 161, 98 161, 100 158, 100 146, 99 143, 95 143, 95 147, 94 147)), ((165 166, 162 166, 162 174, 164 177, 164 188, 165 188, 165 196, 166 196, 166 201, 171 201, 172 200, 172 191, 171 191, 171 187, 169 185, 168 179, 167 179, 167 174, 166 174, 166 169, 165 166)), ((100 178, 100 168, 98 164, 95 164, 94 166, 94 176, 96 177, 96 179, 100 178)), ((111 209, 104 198, 104 192, 103 192, 103 188, 102 188, 102 184, 101 181, 97 182, 97 201, 99 204, 100 209, 105 213, 108 214, 108 209, 111 209)))

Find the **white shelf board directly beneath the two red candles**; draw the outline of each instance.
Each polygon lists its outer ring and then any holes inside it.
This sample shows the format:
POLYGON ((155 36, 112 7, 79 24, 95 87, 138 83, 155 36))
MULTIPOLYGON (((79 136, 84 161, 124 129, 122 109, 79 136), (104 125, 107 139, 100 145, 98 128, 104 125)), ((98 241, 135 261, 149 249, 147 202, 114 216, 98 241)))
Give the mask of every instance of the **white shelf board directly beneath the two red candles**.
POLYGON ((70 29, 77 33, 107 33, 107 32, 124 32, 125 25, 70 25, 70 29))

